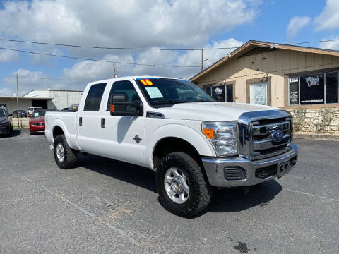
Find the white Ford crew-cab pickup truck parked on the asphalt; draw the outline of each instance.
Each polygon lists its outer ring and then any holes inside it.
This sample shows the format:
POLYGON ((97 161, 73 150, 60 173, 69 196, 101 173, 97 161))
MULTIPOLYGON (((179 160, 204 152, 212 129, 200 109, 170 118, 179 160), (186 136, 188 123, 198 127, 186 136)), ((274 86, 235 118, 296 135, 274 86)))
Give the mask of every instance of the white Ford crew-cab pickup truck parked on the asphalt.
POLYGON ((89 83, 78 111, 50 111, 45 121, 61 169, 75 167, 79 152, 148 167, 162 204, 182 217, 205 210, 215 187, 253 186, 297 164, 287 111, 215 102, 176 78, 89 83))

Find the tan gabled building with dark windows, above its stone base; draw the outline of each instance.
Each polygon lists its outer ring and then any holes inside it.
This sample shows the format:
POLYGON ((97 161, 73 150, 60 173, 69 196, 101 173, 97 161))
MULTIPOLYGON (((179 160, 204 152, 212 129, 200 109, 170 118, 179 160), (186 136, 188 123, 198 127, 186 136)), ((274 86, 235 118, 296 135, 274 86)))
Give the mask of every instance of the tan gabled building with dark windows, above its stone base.
POLYGON ((224 102, 338 107, 339 52, 249 41, 191 82, 224 102))

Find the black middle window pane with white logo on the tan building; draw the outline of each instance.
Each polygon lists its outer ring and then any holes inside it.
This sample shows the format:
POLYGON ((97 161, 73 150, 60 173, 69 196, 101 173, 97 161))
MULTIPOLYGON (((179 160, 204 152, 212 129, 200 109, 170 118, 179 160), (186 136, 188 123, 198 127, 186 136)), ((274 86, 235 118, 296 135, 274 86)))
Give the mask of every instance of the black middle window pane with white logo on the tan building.
POLYGON ((323 104, 323 74, 300 77, 300 104, 323 104))

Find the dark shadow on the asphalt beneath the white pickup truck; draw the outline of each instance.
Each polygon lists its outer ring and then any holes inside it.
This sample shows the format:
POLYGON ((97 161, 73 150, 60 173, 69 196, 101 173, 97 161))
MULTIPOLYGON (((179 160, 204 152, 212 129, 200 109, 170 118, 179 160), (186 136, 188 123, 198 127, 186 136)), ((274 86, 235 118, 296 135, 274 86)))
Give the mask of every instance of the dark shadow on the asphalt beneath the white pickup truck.
MULTIPOLYGON (((81 167, 96 171, 100 174, 119 179, 127 183, 157 192, 155 186, 155 172, 145 167, 119 162, 96 155, 79 156, 81 167)), ((282 191, 280 184, 271 180, 251 186, 249 193, 244 193, 244 188, 229 188, 215 191, 210 206, 206 212, 239 212, 255 206, 268 205, 275 195, 282 191)), ((160 202, 160 199, 158 199, 160 202)), ((161 202, 160 202, 160 205, 161 202)), ((201 216, 199 214, 198 216, 201 216)))

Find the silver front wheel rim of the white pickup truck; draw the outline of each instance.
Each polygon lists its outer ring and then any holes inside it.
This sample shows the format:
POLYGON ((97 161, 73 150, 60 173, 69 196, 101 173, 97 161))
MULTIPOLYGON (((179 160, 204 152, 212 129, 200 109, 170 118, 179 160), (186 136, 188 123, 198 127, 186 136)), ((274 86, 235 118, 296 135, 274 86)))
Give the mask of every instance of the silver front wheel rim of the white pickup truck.
POLYGON ((167 169, 164 183, 165 191, 173 202, 183 204, 189 199, 187 177, 180 169, 176 167, 167 169))

